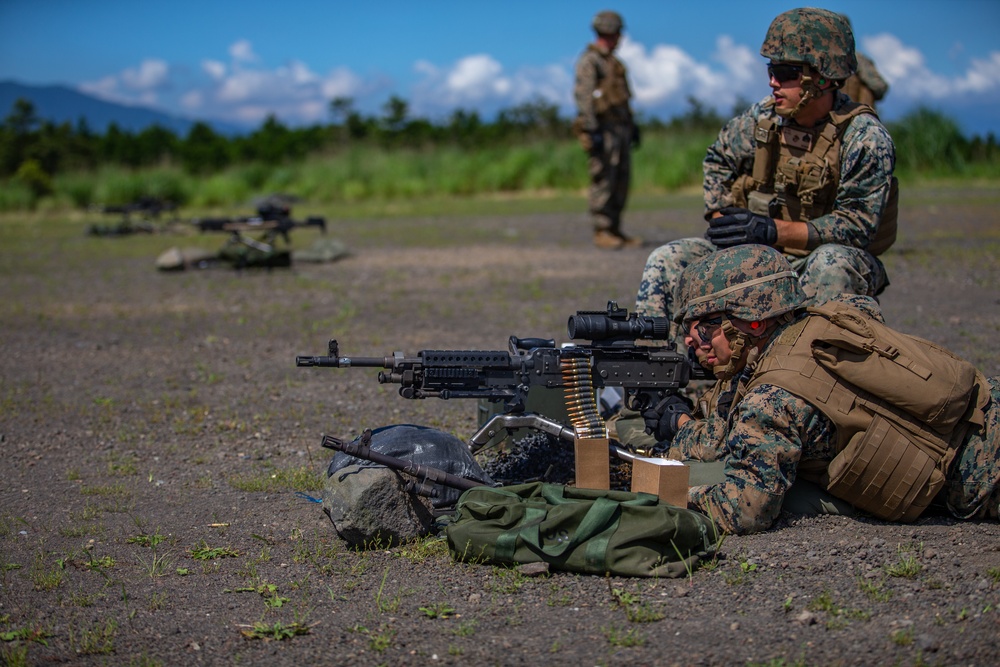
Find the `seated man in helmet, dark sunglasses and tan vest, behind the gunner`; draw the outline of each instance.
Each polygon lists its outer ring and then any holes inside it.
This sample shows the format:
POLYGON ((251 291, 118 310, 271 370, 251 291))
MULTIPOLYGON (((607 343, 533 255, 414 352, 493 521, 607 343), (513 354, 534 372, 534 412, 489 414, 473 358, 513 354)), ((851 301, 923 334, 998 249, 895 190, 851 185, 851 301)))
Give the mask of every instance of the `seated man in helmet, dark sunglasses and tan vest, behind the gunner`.
POLYGON ((888 284, 877 255, 896 235, 895 146, 874 110, 840 90, 857 70, 850 25, 825 9, 793 9, 772 21, 760 53, 772 94, 709 147, 706 238, 650 254, 641 315, 673 317, 684 268, 741 244, 782 251, 810 302, 876 296, 888 284))

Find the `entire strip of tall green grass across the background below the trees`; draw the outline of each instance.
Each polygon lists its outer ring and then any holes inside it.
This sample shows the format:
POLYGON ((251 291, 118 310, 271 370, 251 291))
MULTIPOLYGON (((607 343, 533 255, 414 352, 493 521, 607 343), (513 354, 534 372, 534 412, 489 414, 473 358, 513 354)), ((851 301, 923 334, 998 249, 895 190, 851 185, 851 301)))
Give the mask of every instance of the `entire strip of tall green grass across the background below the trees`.
MULTIPOLYGON (((995 139, 969 142, 951 119, 920 109, 889 125, 897 174, 908 181, 1000 180, 995 139), (978 142, 978 143, 977 143, 978 142)), ((633 153, 632 194, 655 195, 701 184, 701 163, 714 129, 648 131, 633 153)), ((420 201, 496 193, 579 193, 588 182, 586 157, 570 139, 463 148, 388 148, 348 144, 294 163, 254 162, 196 176, 180 165, 141 170, 106 166, 57 175, 39 195, 11 179, 0 188, 0 211, 72 209, 124 204, 142 196, 195 209, 245 207, 252 197, 285 192, 317 205, 420 201)))

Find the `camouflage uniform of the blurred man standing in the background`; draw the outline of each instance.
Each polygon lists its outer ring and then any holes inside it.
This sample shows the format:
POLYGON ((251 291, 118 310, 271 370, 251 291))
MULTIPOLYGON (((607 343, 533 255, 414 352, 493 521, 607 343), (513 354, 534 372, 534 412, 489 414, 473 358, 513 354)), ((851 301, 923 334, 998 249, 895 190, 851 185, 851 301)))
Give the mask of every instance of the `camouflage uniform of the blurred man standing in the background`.
POLYGON ((594 230, 621 235, 621 215, 632 176, 631 146, 634 126, 625 65, 596 44, 590 44, 576 64, 577 120, 581 140, 599 132, 600 150, 584 144, 588 151, 590 191, 587 206, 594 230))

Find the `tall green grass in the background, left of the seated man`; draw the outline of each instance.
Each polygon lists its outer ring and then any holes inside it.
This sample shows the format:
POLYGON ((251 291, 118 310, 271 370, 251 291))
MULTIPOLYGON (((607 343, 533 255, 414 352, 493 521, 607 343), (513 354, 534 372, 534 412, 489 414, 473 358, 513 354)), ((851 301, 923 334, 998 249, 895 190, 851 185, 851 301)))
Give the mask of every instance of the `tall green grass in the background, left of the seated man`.
MULTIPOLYGON (((658 194, 701 182, 709 134, 651 133, 633 153, 633 193, 658 194)), ((495 193, 579 192, 587 160, 572 140, 485 149, 352 145, 290 164, 244 164, 209 176, 179 165, 104 167, 54 179, 56 207, 123 204, 161 197, 198 209, 245 206, 255 195, 286 192, 315 204, 419 200, 495 193)), ((31 207, 31 192, 8 189, 0 210, 31 207)))

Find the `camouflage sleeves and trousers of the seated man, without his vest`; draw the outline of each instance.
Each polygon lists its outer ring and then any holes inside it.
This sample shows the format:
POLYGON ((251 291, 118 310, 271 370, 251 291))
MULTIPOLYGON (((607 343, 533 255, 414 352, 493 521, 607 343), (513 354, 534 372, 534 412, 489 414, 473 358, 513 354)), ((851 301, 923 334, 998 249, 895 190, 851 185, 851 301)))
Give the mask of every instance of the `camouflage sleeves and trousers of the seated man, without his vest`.
MULTIPOLYGON (((754 131, 764 115, 786 124, 770 110, 771 98, 754 104, 729 121, 708 149, 705 174, 705 217, 733 206, 730 186, 737 176, 753 169, 754 131)), ((850 102, 836 93, 834 110, 850 102)), ((856 116, 844 132, 840 182, 832 210, 810 220, 819 245, 804 257, 786 255, 800 278, 810 303, 829 301, 840 294, 875 296, 888 284, 885 268, 865 248, 875 238, 895 169, 895 146, 888 131, 870 114, 856 116)), ((684 268, 713 252, 705 239, 679 239, 654 250, 646 262, 636 311, 643 316, 673 317, 677 283, 684 268)))

